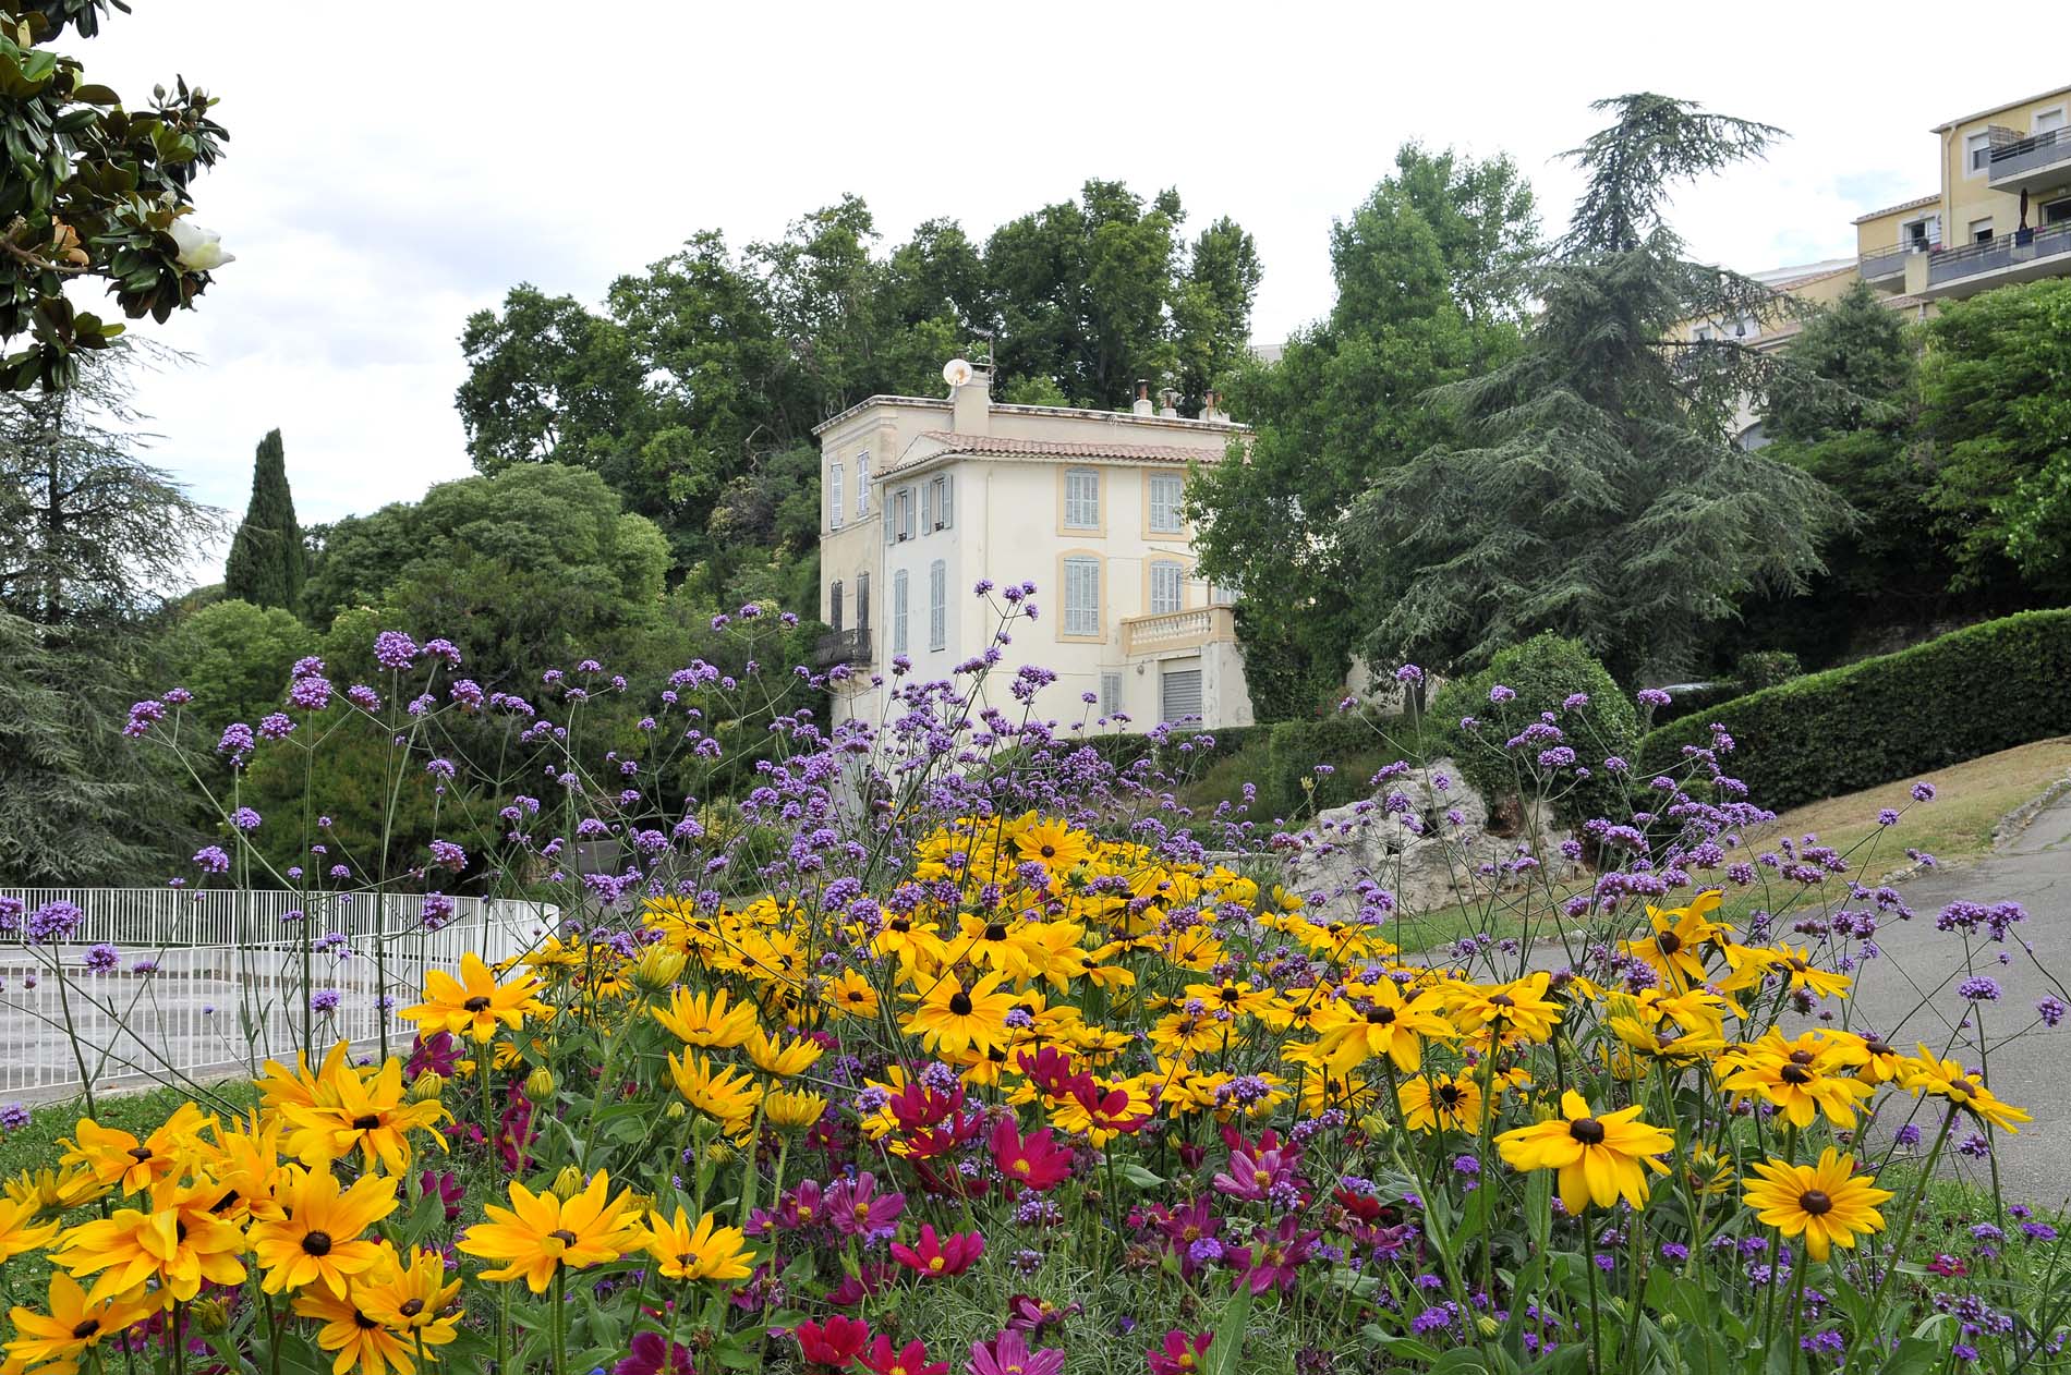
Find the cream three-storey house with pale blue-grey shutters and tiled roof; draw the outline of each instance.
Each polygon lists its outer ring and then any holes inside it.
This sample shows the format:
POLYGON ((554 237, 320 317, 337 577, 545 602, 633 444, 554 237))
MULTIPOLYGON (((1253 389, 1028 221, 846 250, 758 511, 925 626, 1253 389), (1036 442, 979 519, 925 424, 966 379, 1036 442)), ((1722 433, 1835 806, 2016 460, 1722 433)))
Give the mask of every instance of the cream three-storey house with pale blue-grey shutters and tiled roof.
POLYGON ((849 665, 835 719, 876 721, 895 659, 946 679, 984 652, 994 617, 971 588, 1036 582, 1042 617, 1009 646, 1058 675, 1044 716, 1251 725, 1228 596, 1193 567, 1187 470, 1249 433, 1216 410, 1180 416, 1145 383, 1129 412, 992 400, 986 369, 944 369, 946 398, 872 396, 820 439, 822 667, 849 665), (1083 694, 1093 696, 1085 706, 1083 694))

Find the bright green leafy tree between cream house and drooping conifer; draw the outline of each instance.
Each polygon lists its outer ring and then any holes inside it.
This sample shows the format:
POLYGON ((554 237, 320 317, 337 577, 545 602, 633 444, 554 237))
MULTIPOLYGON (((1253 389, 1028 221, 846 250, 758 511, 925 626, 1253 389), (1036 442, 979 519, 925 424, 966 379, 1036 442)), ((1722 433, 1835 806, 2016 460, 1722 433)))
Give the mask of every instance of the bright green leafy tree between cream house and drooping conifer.
POLYGON ((1330 317, 1276 364, 1230 375, 1232 406, 1257 433, 1249 462, 1197 474, 1195 549, 1205 576, 1241 592, 1247 681, 1267 719, 1342 690, 1402 576, 1352 538, 1352 503, 1450 433, 1433 387, 1516 354, 1535 253, 1530 188, 1508 159, 1406 145, 1332 228, 1330 317))

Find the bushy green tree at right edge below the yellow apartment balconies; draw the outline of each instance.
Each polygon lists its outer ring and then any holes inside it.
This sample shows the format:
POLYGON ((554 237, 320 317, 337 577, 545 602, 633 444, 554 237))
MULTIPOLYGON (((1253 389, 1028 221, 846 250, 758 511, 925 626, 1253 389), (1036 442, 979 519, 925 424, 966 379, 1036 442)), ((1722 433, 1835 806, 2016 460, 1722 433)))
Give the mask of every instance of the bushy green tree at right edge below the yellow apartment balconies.
POLYGON ((2007 286, 1928 323, 1924 427, 1938 528, 1961 582, 2009 569, 2034 592, 2071 592, 2071 282, 2007 286))

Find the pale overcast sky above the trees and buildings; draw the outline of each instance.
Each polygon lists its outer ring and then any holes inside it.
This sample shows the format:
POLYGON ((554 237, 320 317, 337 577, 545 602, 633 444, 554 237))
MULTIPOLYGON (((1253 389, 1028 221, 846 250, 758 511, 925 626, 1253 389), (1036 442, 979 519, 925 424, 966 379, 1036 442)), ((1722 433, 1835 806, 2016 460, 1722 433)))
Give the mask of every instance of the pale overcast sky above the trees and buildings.
MULTIPOLYGON (((1176 186, 1265 263, 1253 335, 1330 309, 1330 222, 1406 139, 1533 178, 1549 228, 1588 101, 1636 89, 1791 139, 1680 195, 1698 257, 1746 271, 1854 253, 1849 220, 1936 191, 1930 126, 2071 79, 2071 12, 1897 4, 543 4, 135 0, 66 46, 133 104, 222 95, 197 222, 238 261, 141 329, 159 460, 242 511, 273 427, 304 522, 464 476, 451 396, 470 311, 516 282, 601 300, 702 228, 783 232, 843 193, 886 244, 973 236, 1089 176, 1176 186), (1941 37, 1938 37, 1941 35, 1941 37)), ((213 576, 213 574, 211 574, 213 576)))

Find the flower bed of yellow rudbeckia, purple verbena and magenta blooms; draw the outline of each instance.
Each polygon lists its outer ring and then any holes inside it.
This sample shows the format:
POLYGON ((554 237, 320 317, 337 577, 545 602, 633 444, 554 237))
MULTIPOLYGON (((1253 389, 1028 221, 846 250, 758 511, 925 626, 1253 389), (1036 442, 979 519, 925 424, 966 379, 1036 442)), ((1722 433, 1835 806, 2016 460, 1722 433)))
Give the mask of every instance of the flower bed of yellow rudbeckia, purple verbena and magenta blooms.
MULTIPOLYGON (((302 688, 309 716, 410 741, 393 702, 483 710, 406 644, 350 706, 302 688)), ((1628 861, 1591 890, 1535 890, 1518 855, 1487 876, 1483 934, 1412 955, 1385 874, 1286 890, 1286 837, 1180 816, 1147 762, 1042 721, 1040 675, 1015 714, 980 710, 982 675, 893 681, 882 727, 833 735, 762 694, 789 750, 719 843, 683 824, 696 801, 619 787, 646 762, 588 770, 588 690, 547 731, 518 712, 561 793, 509 803, 507 868, 609 832, 634 870, 563 874, 586 915, 516 961, 429 971, 393 1056, 311 1019, 249 1116, 197 1091, 143 1135, 81 1120, 0 1205, 8 1371, 2059 1358, 2052 1286, 2013 1282, 2057 1265, 2048 1224, 1994 1199, 2003 1242, 1963 1278, 1909 1259, 1934 1170, 2025 1120, 1972 1069, 1986 1044, 1849 1025, 1903 901, 1851 890, 1816 843, 1744 847, 1767 814, 1717 754, 1599 824, 1628 861)), ((652 739, 696 752, 746 688, 686 669, 652 739)), ((1524 777, 1549 716, 1501 731, 1528 735, 1524 777)), ((176 712, 139 721, 178 750, 176 712)), ((2015 919, 1955 926, 1988 944, 2015 919)))

